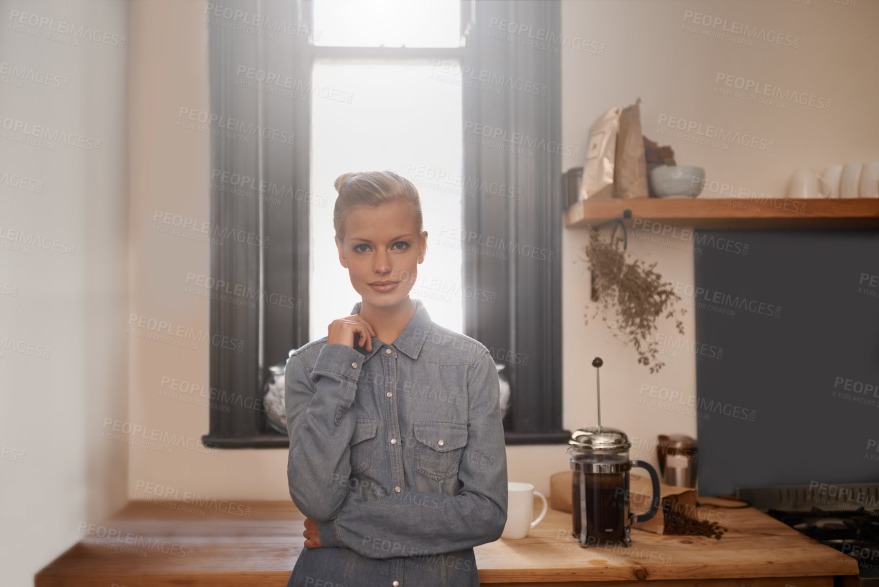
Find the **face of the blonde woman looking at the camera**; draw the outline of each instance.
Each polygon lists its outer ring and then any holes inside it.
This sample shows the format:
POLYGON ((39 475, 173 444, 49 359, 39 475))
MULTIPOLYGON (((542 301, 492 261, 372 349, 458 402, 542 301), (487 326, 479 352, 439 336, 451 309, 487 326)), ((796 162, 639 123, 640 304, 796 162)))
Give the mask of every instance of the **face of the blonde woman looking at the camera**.
MULTIPOLYGON (((345 217, 345 242, 336 237, 338 260, 348 269, 364 304, 399 304, 415 286, 425 253, 409 202, 355 206, 345 217), (389 282, 384 286, 383 283, 389 282)), ((427 238, 427 231, 422 232, 427 238)))

